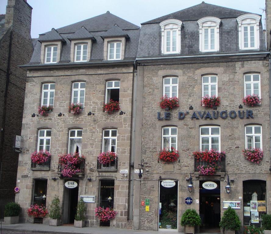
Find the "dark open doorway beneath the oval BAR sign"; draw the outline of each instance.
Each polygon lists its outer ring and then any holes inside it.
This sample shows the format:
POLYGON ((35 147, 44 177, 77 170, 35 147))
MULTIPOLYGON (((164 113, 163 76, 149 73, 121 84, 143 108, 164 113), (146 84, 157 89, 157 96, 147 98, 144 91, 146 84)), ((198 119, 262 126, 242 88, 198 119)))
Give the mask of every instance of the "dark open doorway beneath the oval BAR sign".
MULTIPOLYGON (((68 180, 67 180, 68 181, 68 180)), ((64 182, 67 182, 64 181, 64 182)), ((67 188, 64 186, 64 197, 63 197, 63 224, 73 224, 74 217, 76 214, 76 207, 78 203, 78 180, 73 180, 77 183, 75 188, 67 188)))

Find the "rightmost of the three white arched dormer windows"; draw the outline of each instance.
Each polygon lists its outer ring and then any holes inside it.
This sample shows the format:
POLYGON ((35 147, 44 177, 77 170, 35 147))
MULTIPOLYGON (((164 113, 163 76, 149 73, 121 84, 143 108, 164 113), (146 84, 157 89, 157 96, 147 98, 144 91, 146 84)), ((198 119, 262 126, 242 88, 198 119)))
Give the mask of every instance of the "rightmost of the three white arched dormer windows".
POLYGON ((244 14, 236 18, 239 27, 239 49, 259 49, 261 16, 244 14))

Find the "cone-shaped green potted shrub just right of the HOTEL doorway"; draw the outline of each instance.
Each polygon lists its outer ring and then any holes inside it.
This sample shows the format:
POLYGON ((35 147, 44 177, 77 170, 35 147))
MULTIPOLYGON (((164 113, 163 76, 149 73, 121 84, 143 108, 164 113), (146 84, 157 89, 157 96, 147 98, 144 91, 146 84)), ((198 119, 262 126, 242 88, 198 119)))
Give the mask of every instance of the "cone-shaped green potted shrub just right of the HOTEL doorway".
POLYGON ((223 213, 221 221, 219 222, 219 227, 223 228, 224 234, 234 234, 235 231, 240 229, 240 219, 236 214, 236 211, 231 207, 223 213))

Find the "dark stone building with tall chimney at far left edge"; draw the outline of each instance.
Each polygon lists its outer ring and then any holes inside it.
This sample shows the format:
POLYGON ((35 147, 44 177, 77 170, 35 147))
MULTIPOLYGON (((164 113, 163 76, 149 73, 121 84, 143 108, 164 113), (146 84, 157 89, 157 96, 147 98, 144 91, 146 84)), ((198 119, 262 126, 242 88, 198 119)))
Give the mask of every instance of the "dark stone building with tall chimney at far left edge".
POLYGON ((8 0, 0 15, 0 218, 7 202, 14 201, 19 153, 13 151, 21 135, 26 71, 18 65, 30 61, 32 7, 23 0, 8 0), (12 105, 11 105, 12 104, 12 105))

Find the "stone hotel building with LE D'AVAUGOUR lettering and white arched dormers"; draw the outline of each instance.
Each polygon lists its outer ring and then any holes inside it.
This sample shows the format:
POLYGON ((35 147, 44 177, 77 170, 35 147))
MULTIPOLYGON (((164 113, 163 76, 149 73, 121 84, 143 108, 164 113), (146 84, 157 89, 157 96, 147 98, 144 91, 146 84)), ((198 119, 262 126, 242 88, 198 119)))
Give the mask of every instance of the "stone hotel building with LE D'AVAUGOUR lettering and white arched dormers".
POLYGON ((251 217, 271 211, 268 59, 258 14, 202 2, 142 23, 135 165, 143 173, 134 182, 136 228, 183 231, 181 216, 194 208, 201 231, 220 232, 228 206, 242 225, 259 225, 251 217), (251 94, 259 95, 260 105, 245 105, 251 94), (160 108, 163 95, 177 97, 179 107, 160 108), (206 95, 220 97, 219 106, 201 104, 206 95), (158 158, 171 147, 179 153, 176 161, 158 158), (259 164, 243 155, 253 148, 263 151, 259 164), (212 149, 225 157, 210 159, 212 149), (205 150, 209 163, 199 152, 205 150))

